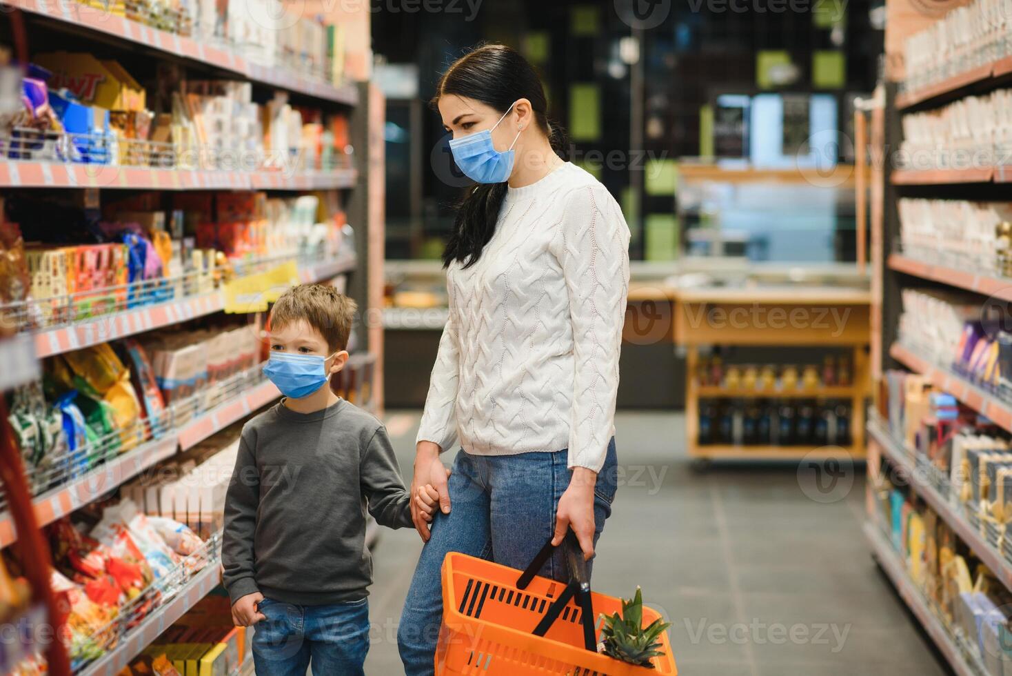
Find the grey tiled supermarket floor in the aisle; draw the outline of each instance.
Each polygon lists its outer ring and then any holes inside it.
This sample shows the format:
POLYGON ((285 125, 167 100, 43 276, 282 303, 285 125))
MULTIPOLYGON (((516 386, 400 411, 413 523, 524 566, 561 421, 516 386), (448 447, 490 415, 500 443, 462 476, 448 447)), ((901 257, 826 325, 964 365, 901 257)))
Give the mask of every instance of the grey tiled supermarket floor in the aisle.
MULTIPOLYGON (((387 416, 406 475, 417 418, 387 416)), ((682 438, 676 414, 617 416, 625 485, 598 543, 593 581, 616 595, 640 584, 663 608, 679 674, 947 673, 868 554, 860 476, 845 497, 817 502, 790 467, 697 474, 682 438)), ((420 548, 414 531, 383 532, 367 674, 403 673, 396 627, 420 548)))

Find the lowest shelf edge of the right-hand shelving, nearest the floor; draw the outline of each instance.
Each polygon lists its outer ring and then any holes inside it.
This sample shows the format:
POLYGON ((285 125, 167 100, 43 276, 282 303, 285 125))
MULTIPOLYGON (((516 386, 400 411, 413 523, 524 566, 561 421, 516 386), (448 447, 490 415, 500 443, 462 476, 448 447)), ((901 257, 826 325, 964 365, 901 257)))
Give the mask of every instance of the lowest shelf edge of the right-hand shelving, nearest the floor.
POLYGON ((967 656, 960 650, 945 626, 942 625, 941 620, 928 607, 924 595, 907 575, 903 561, 900 560, 899 555, 893 550, 886 536, 879 532, 878 526, 866 521, 864 535, 882 571, 893 581, 900 597, 921 622, 928 636, 931 637, 935 647, 952 667, 952 671, 957 676, 986 676, 988 672, 980 659, 967 656))

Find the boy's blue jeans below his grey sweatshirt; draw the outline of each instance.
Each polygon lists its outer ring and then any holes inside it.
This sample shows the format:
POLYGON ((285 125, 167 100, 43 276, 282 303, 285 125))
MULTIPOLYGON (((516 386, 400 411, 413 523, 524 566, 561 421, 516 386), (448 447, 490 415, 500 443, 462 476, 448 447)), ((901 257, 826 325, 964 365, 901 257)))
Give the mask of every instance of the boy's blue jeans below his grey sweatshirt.
POLYGON ((367 599, 328 605, 294 605, 265 598, 253 635, 257 676, 361 675, 369 652, 367 599))

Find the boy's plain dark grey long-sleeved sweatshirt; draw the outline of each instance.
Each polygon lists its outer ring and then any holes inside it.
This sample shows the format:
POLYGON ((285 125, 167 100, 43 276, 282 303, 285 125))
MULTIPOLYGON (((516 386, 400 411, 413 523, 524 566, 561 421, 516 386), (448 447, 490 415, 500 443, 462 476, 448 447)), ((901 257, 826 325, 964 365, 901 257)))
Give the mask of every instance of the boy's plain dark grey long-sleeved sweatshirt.
POLYGON ((257 591, 299 605, 365 598, 365 510, 383 525, 410 527, 409 502, 374 417, 344 400, 309 414, 275 405, 243 427, 225 500, 232 602, 257 591))

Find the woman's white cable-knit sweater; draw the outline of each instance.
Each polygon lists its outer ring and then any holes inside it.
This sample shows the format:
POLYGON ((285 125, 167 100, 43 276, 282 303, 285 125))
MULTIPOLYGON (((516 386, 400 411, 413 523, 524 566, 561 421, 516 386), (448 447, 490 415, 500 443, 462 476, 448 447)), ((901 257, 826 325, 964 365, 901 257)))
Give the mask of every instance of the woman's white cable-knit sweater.
POLYGON ((418 440, 469 453, 569 448, 595 472, 614 434, 629 231, 593 176, 566 163, 509 188, 475 265, 446 271, 449 320, 418 440))

